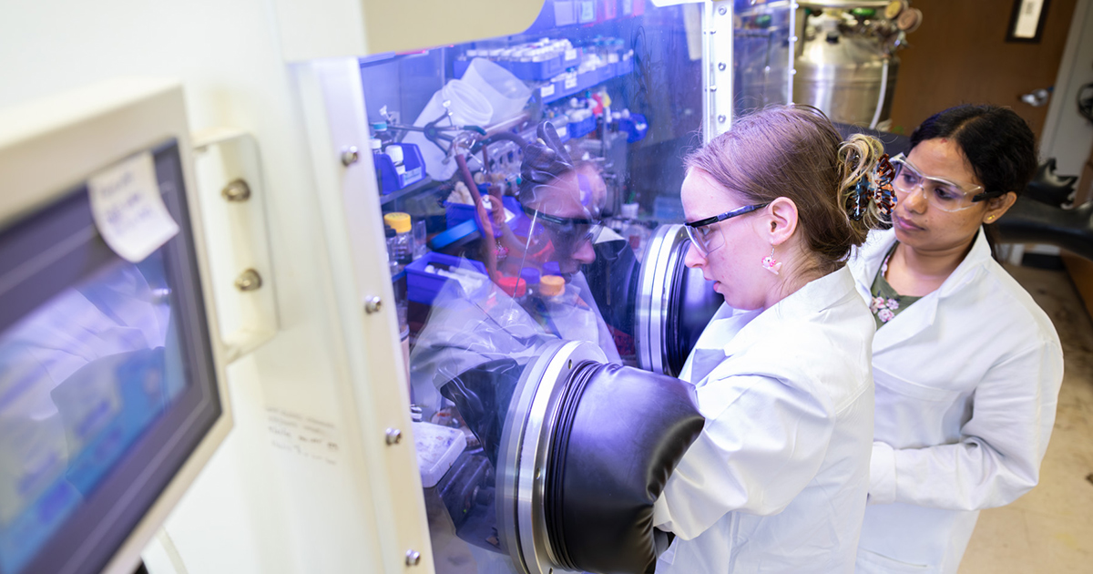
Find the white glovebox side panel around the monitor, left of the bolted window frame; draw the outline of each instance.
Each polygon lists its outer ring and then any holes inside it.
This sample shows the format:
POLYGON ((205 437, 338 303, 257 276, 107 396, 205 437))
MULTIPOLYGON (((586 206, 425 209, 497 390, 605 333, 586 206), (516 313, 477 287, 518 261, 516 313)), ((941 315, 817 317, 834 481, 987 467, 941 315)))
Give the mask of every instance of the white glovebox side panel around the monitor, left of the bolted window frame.
POLYGON ((346 319, 332 302, 275 21, 272 0, 0 3, 0 106, 117 75, 167 75, 184 81, 191 131, 228 126, 258 139, 283 330, 230 368, 236 427, 167 523, 193 573, 368 571, 379 554, 367 477, 349 448, 360 436, 345 420, 349 351, 338 332, 346 319), (343 445, 334 462, 272 447, 269 409, 330 425, 343 445))

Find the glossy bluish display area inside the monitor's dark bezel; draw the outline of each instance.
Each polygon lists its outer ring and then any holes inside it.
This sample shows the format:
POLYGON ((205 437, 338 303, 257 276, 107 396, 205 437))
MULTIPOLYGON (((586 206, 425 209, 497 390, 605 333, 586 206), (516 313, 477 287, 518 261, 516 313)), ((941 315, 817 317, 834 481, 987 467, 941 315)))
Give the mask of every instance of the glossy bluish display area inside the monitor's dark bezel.
POLYGON ((160 254, 0 331, 0 569, 19 572, 178 396, 179 355, 160 254))

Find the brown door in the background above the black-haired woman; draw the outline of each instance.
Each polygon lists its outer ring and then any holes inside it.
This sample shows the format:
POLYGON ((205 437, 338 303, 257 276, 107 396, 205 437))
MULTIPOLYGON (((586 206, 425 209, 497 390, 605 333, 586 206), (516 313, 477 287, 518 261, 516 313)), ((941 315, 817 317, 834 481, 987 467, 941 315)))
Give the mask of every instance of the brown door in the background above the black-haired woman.
POLYGON ((915 0, 924 17, 909 38, 910 49, 900 55, 893 131, 909 134, 957 104, 989 103, 1012 107, 1039 138, 1047 103, 1032 106, 1021 96, 1055 83, 1076 0, 1044 2, 1037 43, 1006 42, 1013 1, 1019 0, 915 0))

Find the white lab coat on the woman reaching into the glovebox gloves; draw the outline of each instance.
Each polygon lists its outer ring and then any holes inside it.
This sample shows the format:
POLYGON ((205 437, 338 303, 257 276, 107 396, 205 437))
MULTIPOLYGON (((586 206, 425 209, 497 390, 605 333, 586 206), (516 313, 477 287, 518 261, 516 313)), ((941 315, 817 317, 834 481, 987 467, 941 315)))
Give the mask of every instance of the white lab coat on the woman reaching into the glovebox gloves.
POLYGON ((654 524, 678 536, 657 574, 854 571, 872 320, 845 268, 765 312, 718 311, 681 377, 706 426, 656 503, 654 524))

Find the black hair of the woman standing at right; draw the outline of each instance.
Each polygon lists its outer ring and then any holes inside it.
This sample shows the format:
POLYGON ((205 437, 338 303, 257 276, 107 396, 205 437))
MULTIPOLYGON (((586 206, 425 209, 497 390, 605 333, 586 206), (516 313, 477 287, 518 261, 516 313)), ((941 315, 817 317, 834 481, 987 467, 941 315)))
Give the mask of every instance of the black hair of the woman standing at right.
POLYGON ((1036 136, 1010 108, 964 104, 939 112, 912 132, 910 149, 937 138, 956 142, 991 196, 1021 195, 1036 174, 1036 136))

